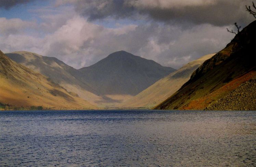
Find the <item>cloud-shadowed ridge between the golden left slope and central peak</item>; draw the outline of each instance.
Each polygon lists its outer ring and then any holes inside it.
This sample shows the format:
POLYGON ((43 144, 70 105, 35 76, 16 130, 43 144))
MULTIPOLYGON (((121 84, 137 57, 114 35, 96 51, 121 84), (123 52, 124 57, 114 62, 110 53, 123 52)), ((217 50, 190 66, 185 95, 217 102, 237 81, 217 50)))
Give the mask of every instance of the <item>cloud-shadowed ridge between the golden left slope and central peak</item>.
POLYGON ((77 69, 66 65, 55 57, 41 56, 26 51, 12 52, 5 55, 33 71, 48 76, 53 82, 61 85, 67 91, 78 94, 79 97, 90 101, 93 105, 98 105, 97 101, 103 101, 101 97, 95 95, 98 92, 89 86, 86 81, 81 82, 72 75, 72 73, 79 72, 77 69))

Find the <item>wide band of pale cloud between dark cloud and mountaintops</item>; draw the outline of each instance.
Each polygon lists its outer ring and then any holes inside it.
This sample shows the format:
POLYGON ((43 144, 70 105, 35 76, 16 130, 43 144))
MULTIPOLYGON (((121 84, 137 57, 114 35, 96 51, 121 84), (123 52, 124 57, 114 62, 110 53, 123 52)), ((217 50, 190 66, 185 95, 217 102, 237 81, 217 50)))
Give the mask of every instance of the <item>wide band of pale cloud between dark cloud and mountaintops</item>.
MULTIPOLYGON (((0 49, 4 53, 25 50, 56 57, 74 68, 92 65, 108 54, 125 50, 179 68, 205 54, 218 52, 233 38, 226 27, 210 24, 182 29, 179 25, 150 22, 106 28, 77 14, 45 17, 50 21, 31 22, 32 26, 17 19, 14 24, 17 31, 0 32, 0 49), (53 22, 55 25, 49 24, 53 22), (42 36, 25 32, 29 28, 40 33, 42 27, 48 28, 42 36)), ((2 20, 13 22, 13 19, 2 20)))

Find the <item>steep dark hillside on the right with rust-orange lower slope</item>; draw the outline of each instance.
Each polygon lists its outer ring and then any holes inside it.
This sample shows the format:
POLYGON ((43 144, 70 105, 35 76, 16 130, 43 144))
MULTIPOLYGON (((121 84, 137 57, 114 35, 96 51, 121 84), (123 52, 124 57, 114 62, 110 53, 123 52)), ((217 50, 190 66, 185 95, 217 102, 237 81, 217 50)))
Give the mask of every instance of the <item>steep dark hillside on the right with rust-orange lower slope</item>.
MULTIPOLYGON (((198 110, 210 108, 217 104, 218 100, 230 96, 231 92, 255 77, 255 29, 256 21, 236 34, 223 50, 206 60, 193 72, 188 82, 155 109, 198 110)), ((239 94, 233 95, 239 96, 239 94)), ((239 99, 239 97, 237 98, 239 99)), ((231 98, 231 100, 235 99, 235 97, 231 98)), ((255 101, 256 99, 251 100, 255 101)), ((236 103, 239 102, 236 101, 236 103)), ((216 105, 214 109, 219 110, 218 106, 216 105)), ((256 108, 255 103, 254 108, 256 108)), ((227 106, 222 109, 239 110, 240 108, 227 106)))

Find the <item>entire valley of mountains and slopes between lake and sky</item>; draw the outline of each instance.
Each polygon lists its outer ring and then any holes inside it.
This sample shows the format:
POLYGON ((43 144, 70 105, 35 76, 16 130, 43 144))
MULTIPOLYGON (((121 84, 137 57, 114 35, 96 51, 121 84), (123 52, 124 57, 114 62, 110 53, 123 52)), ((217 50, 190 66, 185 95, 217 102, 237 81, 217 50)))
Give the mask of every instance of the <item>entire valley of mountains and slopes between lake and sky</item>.
POLYGON ((81 69, 27 51, 1 53, 1 108, 255 110, 255 103, 223 107, 231 96, 254 98, 241 85, 255 87, 255 22, 178 70, 125 51, 81 69))

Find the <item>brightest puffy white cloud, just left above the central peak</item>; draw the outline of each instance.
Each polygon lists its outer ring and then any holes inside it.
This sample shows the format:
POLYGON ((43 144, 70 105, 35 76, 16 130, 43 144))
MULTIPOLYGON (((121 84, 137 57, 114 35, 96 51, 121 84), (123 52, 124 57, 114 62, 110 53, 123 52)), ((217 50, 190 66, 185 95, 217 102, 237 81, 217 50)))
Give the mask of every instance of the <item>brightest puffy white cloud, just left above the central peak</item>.
MULTIPOLYGON (((91 65, 95 60, 104 58, 111 41, 132 31, 135 25, 118 28, 105 28, 88 22, 80 16, 68 19, 66 24, 44 38, 43 55, 55 56, 75 68, 91 65)), ((113 46, 110 48, 116 51, 113 46)), ((110 53, 108 53, 110 54, 110 53)))

